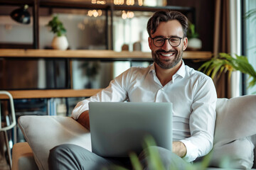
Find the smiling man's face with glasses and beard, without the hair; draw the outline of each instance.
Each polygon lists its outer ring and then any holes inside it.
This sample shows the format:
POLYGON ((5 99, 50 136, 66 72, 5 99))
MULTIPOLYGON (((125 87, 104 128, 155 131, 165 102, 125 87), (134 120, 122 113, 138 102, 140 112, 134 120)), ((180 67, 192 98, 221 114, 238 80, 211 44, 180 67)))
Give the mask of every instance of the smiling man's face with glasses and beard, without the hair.
POLYGON ((183 38, 181 23, 176 20, 161 22, 156 32, 149 37, 149 47, 154 62, 162 69, 181 65, 183 50, 186 50, 187 44, 188 38, 183 38))

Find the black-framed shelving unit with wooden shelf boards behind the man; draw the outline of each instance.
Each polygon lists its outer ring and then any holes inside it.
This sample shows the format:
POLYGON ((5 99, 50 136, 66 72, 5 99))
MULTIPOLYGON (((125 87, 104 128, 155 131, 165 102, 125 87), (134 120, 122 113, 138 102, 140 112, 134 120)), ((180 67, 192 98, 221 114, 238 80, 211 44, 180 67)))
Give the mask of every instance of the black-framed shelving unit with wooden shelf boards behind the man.
MULTIPOLYGON (((112 49, 112 25, 113 25, 113 13, 114 11, 157 11, 160 9, 172 9, 181 11, 183 13, 192 13, 193 19, 195 17, 195 9, 193 7, 183 6, 114 6, 113 4, 91 4, 83 0, 1 0, 1 5, 17 6, 28 4, 33 8, 33 48, 34 50, 26 49, 0 49, 0 58, 2 59, 66 59, 68 62, 72 62, 75 59, 81 60, 109 60, 109 61, 152 61, 151 52, 114 52, 113 50, 38 50, 39 47, 39 11, 40 8, 78 8, 78 9, 102 9, 106 11, 106 33, 110 33, 106 37, 107 49, 112 49), (110 24, 108 23, 110 22, 110 24), (109 30, 110 29, 110 30, 109 30), (108 44, 109 43, 109 44, 108 44)), ((188 60, 209 60, 212 57, 211 52, 191 52, 186 51, 183 53, 183 59, 188 60)), ((71 64, 70 64, 71 65, 71 64)), ((72 67, 68 72, 72 72, 72 67)), ((69 75, 70 76, 70 75, 69 75)), ((71 76, 70 76, 71 77, 71 76)), ((72 77, 71 77, 72 78, 72 77)), ((92 96, 96 94, 100 89, 54 89, 54 90, 21 90, 10 91, 14 98, 62 98, 62 97, 82 97, 92 96)), ((1 98, 1 96, 0 96, 1 98)))

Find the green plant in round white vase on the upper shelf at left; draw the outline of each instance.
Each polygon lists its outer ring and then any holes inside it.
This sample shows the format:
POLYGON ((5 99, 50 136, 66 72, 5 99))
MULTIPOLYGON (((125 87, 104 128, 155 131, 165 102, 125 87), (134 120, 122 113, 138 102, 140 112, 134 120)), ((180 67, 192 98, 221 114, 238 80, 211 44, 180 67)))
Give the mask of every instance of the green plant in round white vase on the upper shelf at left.
POLYGON ((67 50, 68 39, 65 36, 66 30, 63 23, 58 19, 58 16, 53 16, 53 19, 46 25, 50 31, 54 33, 52 47, 55 50, 67 50))

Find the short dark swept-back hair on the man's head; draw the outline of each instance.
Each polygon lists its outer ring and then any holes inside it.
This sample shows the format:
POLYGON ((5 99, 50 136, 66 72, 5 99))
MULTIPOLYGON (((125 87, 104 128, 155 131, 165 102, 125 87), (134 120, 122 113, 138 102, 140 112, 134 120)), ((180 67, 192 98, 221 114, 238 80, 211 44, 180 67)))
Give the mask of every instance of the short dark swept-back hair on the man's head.
POLYGON ((186 16, 178 11, 170 10, 156 11, 153 16, 149 18, 146 26, 149 37, 151 37, 151 33, 153 34, 156 32, 156 28, 159 26, 159 23, 172 20, 177 20, 179 23, 181 23, 183 29, 183 37, 185 38, 188 30, 188 18, 186 18, 186 16))

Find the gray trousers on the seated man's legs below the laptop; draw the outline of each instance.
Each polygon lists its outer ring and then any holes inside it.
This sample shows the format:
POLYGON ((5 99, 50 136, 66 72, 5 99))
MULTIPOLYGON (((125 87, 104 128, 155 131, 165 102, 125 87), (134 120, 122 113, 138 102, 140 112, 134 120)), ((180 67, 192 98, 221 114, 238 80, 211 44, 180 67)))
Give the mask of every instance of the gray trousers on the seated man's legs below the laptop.
MULTIPOLYGON (((178 157, 171 151, 162 147, 151 147, 159 152, 161 162, 165 169, 186 169, 188 163, 178 157)), ((139 161, 143 169, 152 169, 149 164, 149 155, 146 154, 146 149, 139 154, 139 161)), ((100 157, 95 153, 79 147, 77 145, 64 144, 50 149, 48 158, 49 169, 115 169, 116 166, 122 166, 126 169, 133 169, 129 158, 110 158, 100 157)))

